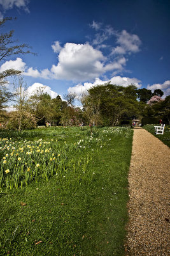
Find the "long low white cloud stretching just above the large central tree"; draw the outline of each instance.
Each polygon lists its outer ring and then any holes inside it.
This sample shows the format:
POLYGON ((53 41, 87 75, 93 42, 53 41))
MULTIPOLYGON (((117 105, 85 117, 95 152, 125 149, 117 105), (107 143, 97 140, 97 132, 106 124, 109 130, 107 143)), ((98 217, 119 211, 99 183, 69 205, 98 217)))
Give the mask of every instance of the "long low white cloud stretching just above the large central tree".
POLYGON ((102 81, 101 79, 96 78, 94 83, 76 84, 76 86, 69 87, 68 92, 76 93, 76 95, 80 96, 83 93, 86 93, 87 90, 89 90, 90 88, 97 86, 99 84, 106 84, 108 82, 111 82, 111 84, 117 84, 117 85, 121 85, 124 87, 127 87, 130 84, 134 84, 138 88, 141 87, 141 81, 138 80, 137 78, 115 76, 115 77, 111 77, 110 80, 106 80, 106 81, 102 81))

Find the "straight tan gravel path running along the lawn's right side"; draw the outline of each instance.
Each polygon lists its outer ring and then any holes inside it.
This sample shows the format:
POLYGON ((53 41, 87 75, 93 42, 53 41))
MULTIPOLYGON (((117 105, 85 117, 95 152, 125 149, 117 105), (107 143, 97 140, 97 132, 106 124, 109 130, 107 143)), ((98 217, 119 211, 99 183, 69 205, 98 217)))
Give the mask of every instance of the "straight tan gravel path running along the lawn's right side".
POLYGON ((170 255, 169 174, 169 147, 134 129, 126 255, 170 255))

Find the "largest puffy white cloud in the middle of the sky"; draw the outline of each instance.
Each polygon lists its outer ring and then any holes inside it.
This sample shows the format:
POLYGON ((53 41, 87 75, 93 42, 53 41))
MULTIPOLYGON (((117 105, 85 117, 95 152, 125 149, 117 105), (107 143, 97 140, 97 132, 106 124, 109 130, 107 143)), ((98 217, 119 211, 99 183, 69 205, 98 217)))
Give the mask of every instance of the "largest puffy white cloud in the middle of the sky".
POLYGON ((51 71, 56 79, 85 81, 104 72, 106 58, 89 44, 64 45, 59 53, 59 63, 51 71))

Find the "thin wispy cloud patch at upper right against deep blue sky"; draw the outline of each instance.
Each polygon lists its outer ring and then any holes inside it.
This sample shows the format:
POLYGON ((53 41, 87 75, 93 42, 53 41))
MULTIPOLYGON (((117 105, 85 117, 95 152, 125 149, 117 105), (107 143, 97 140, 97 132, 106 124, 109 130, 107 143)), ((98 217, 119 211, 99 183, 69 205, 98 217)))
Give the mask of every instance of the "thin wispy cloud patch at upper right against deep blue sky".
POLYGON ((138 35, 128 33, 126 30, 122 30, 121 33, 117 33, 117 47, 112 49, 111 54, 125 54, 131 52, 139 52, 139 46, 141 45, 141 40, 138 35))

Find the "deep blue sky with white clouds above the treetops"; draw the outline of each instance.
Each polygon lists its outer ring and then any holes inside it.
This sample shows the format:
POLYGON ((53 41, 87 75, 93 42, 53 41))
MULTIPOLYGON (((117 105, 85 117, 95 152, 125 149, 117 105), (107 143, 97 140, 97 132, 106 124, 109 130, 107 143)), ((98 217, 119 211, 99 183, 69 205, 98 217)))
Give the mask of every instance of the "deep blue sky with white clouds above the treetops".
POLYGON ((29 90, 80 95, 96 84, 136 84, 170 94, 169 0, 0 0, 1 17, 17 17, 19 43, 38 56, 0 63, 22 70, 29 90))

